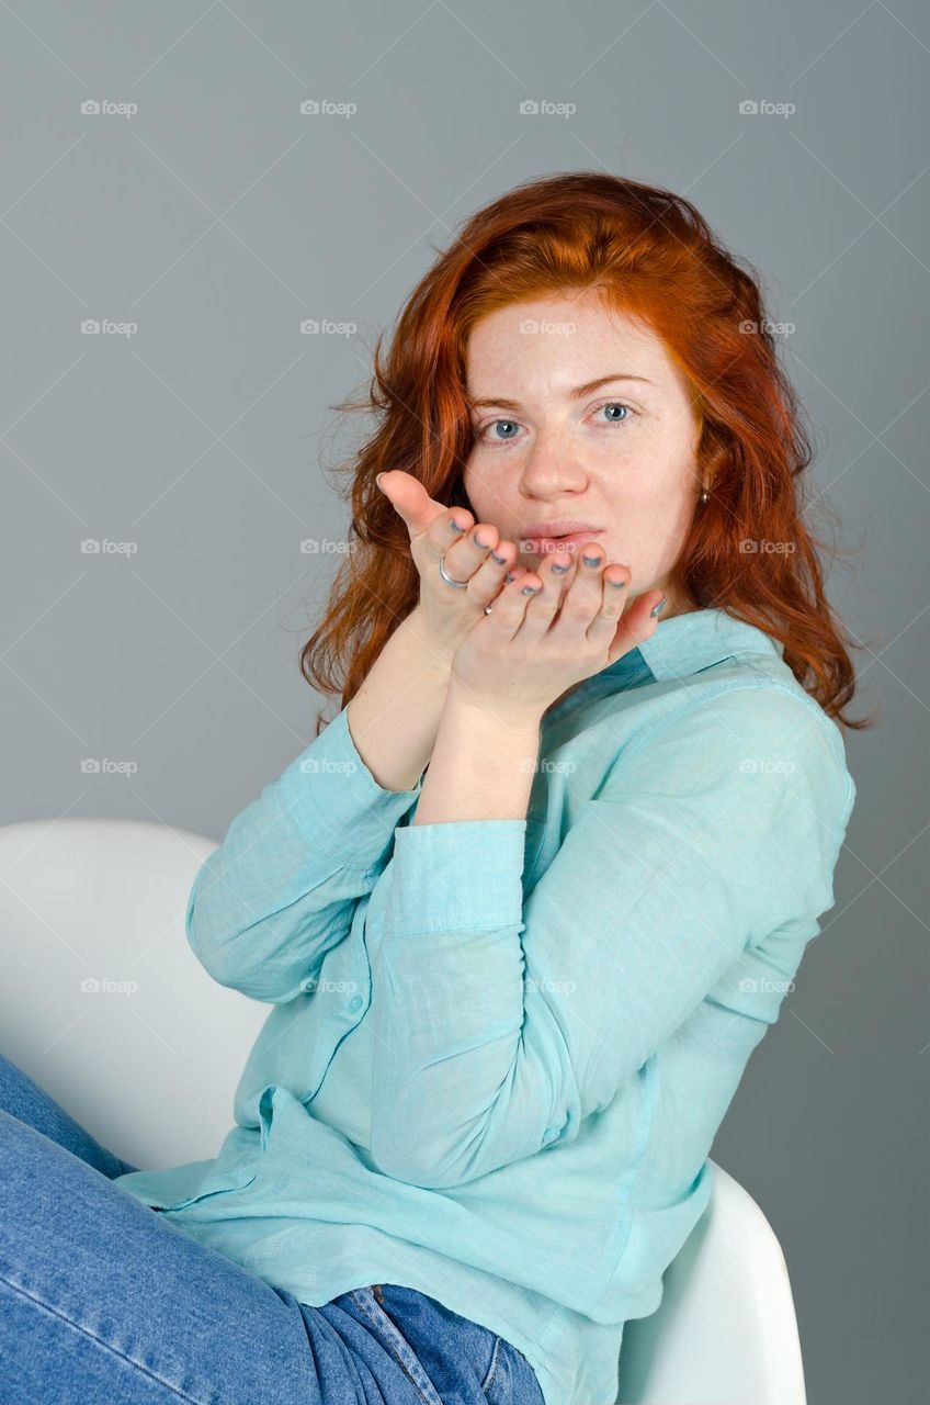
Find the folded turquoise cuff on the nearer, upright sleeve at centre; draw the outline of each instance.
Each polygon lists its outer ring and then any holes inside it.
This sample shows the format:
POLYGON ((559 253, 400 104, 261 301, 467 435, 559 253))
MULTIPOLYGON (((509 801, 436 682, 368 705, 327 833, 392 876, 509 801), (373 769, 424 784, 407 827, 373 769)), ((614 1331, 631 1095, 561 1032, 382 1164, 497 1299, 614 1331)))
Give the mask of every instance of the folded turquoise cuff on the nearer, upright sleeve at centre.
POLYGON ((525 835, 525 819, 457 819, 398 829, 385 930, 523 927, 525 835))

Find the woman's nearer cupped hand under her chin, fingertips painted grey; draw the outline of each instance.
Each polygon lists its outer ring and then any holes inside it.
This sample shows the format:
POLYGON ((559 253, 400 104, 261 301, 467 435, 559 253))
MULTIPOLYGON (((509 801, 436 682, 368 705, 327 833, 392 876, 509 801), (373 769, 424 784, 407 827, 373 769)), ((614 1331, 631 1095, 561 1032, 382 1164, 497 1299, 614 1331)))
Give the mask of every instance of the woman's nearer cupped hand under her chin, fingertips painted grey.
POLYGON ((643 592, 624 610, 629 579, 629 568, 607 563, 594 542, 577 555, 552 552, 539 570, 506 584, 492 613, 472 625, 452 658, 451 687, 465 702, 486 704, 517 724, 541 718, 573 684, 655 634, 659 618, 650 611, 662 590, 643 592), (597 555, 598 563, 587 566, 583 555, 597 555), (552 570, 572 563, 565 575, 552 570), (527 584, 541 589, 523 594, 527 584))

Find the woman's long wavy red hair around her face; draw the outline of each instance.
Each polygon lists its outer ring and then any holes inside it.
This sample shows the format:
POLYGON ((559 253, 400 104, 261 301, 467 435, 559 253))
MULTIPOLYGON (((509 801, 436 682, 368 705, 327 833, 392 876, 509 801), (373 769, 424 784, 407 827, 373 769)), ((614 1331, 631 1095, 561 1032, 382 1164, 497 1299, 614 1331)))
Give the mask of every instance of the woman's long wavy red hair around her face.
MULTIPOLYGON (((784 645, 801 686, 847 728, 856 688, 847 646, 823 593, 805 514, 809 434, 781 370, 759 280, 740 267, 681 195, 601 171, 531 180, 472 215, 402 309, 386 360, 374 350, 368 398, 333 409, 375 414, 343 471, 351 476, 350 551, 319 627, 301 653, 306 680, 353 698, 419 600, 409 532, 376 488, 402 468, 430 496, 471 510, 462 475, 473 445, 465 351, 476 322, 545 295, 597 289, 641 318, 687 378, 700 417, 698 468, 709 500, 695 509, 673 587, 784 645), (777 544, 763 555, 746 542, 777 544)), ((662 628, 662 625, 659 627, 662 628)), ((317 733, 322 712, 317 717, 317 733)))

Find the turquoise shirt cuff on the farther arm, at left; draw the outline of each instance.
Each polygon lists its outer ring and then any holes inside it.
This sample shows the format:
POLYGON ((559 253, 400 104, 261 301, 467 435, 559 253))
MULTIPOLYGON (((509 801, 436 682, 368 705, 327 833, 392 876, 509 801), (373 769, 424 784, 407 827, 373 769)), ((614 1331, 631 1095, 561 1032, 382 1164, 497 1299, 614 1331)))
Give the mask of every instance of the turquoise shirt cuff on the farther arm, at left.
POLYGON ((412 790, 385 790, 353 740, 346 704, 275 785, 281 802, 320 853, 346 865, 368 865, 393 839, 395 828, 423 790, 423 776, 412 790))

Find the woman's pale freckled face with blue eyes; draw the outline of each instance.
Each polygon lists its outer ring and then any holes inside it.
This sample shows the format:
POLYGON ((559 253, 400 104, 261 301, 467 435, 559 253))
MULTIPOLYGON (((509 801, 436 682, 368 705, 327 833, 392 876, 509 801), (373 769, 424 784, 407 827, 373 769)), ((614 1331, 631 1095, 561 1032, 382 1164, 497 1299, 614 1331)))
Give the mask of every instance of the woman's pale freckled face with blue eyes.
POLYGON ((663 620, 693 608, 672 599, 666 576, 701 490, 700 426, 659 339, 596 294, 544 298, 482 319, 466 374, 475 445, 465 492, 475 520, 493 523, 530 569, 554 549, 528 540, 539 523, 600 527, 576 547, 597 541, 607 562, 629 566, 629 599, 662 587, 663 620))

